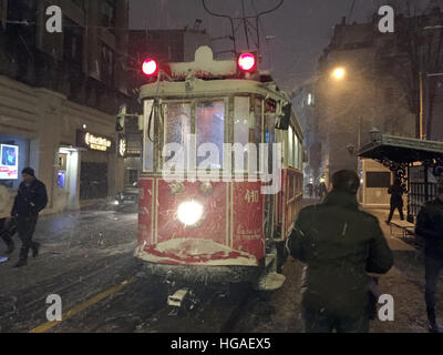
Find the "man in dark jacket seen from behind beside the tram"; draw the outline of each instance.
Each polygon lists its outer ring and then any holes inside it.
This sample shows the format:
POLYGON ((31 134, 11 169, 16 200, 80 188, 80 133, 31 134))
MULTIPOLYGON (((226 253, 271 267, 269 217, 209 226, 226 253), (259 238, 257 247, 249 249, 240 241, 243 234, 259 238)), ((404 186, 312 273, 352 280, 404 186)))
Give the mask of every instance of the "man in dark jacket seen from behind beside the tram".
POLYGON ((290 255, 306 264, 305 332, 367 333, 373 311, 367 273, 387 273, 393 256, 378 220, 359 210, 357 173, 339 171, 331 182, 321 204, 301 210, 287 242, 290 255))

